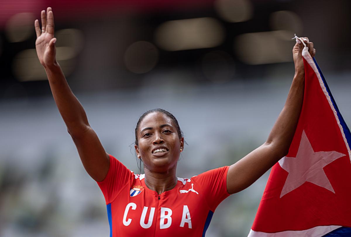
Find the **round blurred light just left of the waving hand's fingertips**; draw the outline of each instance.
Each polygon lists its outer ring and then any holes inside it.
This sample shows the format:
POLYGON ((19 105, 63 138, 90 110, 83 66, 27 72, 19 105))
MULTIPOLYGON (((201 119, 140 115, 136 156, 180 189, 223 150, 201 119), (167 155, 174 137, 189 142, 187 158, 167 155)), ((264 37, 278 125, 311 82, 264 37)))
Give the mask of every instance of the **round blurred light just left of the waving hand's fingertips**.
POLYGON ((22 42, 34 34, 33 13, 18 13, 7 21, 5 26, 6 38, 9 42, 22 42))

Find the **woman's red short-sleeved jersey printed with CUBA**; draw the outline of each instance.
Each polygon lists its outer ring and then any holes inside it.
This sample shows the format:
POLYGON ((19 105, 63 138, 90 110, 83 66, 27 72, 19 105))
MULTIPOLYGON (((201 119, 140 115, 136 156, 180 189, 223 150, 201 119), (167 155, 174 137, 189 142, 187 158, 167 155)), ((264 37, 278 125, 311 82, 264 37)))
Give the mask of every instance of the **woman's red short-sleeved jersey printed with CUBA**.
MULTIPOLYGON (((120 165, 120 162, 117 163, 117 166, 120 165)), ((112 231, 110 236, 113 237, 204 236, 214 209, 229 196, 226 189, 223 190, 225 182, 217 187, 214 187, 215 184, 207 184, 217 176, 226 176, 227 167, 218 168, 221 169, 219 172, 207 171, 191 179, 178 178, 176 187, 160 195, 146 187, 144 175, 134 175, 132 171, 122 169, 128 178, 118 184, 118 191, 112 189, 112 195, 106 190, 114 184, 104 186, 99 183, 105 198, 107 197, 112 231), (212 187, 208 188, 207 185, 212 187)))

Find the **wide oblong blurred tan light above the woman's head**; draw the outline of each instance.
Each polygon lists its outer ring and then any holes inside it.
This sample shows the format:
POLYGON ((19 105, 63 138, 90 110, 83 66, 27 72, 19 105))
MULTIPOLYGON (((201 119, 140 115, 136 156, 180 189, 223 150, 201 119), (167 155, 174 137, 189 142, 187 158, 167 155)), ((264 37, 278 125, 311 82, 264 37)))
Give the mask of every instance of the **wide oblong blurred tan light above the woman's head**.
POLYGON ((157 45, 167 51, 212 48, 224 41, 224 28, 214 18, 167 21, 155 33, 157 45))

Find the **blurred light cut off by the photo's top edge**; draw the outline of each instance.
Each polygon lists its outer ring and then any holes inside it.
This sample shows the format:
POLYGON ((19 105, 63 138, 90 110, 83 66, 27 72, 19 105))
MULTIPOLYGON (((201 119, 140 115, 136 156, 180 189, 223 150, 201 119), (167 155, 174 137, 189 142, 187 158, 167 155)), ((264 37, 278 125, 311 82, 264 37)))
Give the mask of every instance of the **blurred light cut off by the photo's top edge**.
POLYGON ((247 21, 253 15, 253 7, 248 0, 216 0, 214 8, 223 20, 229 22, 247 21))

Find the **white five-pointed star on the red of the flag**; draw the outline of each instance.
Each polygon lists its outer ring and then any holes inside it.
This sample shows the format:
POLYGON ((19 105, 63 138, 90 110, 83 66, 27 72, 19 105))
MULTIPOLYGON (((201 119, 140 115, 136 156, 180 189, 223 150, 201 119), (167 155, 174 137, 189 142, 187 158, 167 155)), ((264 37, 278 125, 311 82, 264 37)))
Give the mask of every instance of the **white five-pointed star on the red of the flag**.
POLYGON ((314 152, 305 131, 302 131, 300 146, 294 157, 283 157, 280 166, 289 172, 280 197, 297 189, 305 182, 311 182, 335 193, 323 167, 344 156, 337 151, 314 152))

